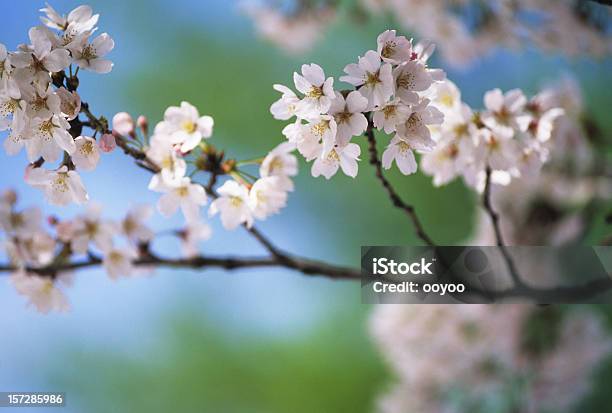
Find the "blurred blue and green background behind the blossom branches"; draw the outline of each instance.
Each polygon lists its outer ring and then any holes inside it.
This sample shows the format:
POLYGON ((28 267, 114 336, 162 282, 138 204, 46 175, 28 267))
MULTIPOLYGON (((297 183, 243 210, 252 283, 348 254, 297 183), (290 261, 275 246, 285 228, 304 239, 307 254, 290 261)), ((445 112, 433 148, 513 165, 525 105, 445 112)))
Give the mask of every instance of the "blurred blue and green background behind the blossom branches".
MULTIPOLYGON (((268 111, 277 98, 272 84, 290 85, 292 72, 310 62, 339 76, 375 47, 379 32, 394 26, 386 17, 357 24, 340 16, 313 50, 288 56, 254 34, 234 1, 88 3, 101 15, 100 31, 116 43, 110 74, 81 72, 79 90, 95 113, 145 114, 154 124, 167 106, 187 100, 214 117, 212 142, 237 158, 260 156, 283 139, 283 123, 268 111)), ((52 2, 62 12, 79 4, 52 2)), ((26 42, 43 6, 3 2, 0 42, 10 50, 26 42)), ((520 87, 531 94, 570 73, 589 112, 612 131, 609 58, 569 60, 527 47, 496 50, 463 69, 435 58, 432 66, 445 69, 473 107, 481 106, 488 89, 520 87)), ((42 204, 41 192, 23 183, 25 154, 0 159, 0 188, 15 188, 21 206, 42 204)), ((420 173, 389 175, 440 244, 471 236, 476 198, 460 182, 434 189, 420 173)), ((148 174, 119 151, 105 155, 83 179, 109 217, 158 197, 147 190, 148 174)), ((357 179, 338 174, 330 182, 313 179, 302 165, 296 186, 288 208, 260 225, 289 251, 357 265, 360 245, 417 242, 367 162, 357 179)), ((78 211, 45 208, 58 216, 78 211)), ((152 224, 172 228, 180 219, 157 215, 152 224)), ((217 221, 213 230, 202 244, 206 252, 262 252, 242 231, 228 233, 217 221)), ((604 232, 599 226, 590 239, 604 232)), ((178 252, 171 241, 156 248, 178 252)), ((0 281, 0 390, 65 391, 69 412, 370 412, 389 382, 367 334, 371 308, 360 303, 358 283, 268 269, 159 270, 113 282, 100 270, 87 270, 68 294, 70 313, 43 316, 0 281)), ((612 374, 606 369, 612 372, 604 366, 581 408, 609 406, 604 383, 612 374)))

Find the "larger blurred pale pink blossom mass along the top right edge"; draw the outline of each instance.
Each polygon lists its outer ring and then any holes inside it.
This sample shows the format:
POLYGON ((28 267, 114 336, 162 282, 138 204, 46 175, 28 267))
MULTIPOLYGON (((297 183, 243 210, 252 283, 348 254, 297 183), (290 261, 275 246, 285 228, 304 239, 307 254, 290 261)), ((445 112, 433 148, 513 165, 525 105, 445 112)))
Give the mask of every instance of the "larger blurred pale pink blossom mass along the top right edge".
POLYGON ((456 66, 473 63, 500 45, 517 49, 535 44, 568 56, 612 52, 607 29, 598 24, 609 11, 595 4, 577 8, 570 0, 463 0, 455 7, 445 0, 363 3, 374 13, 391 12, 407 29, 439 43, 442 57, 456 66))

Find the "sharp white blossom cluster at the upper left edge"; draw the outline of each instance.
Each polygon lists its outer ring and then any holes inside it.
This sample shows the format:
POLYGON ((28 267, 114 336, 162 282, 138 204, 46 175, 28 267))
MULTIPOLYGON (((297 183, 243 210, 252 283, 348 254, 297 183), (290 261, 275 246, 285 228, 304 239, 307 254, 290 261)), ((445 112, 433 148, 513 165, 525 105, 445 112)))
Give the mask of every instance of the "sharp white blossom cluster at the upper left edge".
POLYGON ((0 44, 0 131, 8 129, 9 155, 25 147, 35 163, 26 181, 43 190, 50 203, 82 204, 88 195, 77 171, 95 169, 100 150, 94 137, 71 134, 81 112, 76 73, 110 72, 113 64, 105 55, 114 42, 106 33, 93 36, 99 16, 89 6, 67 16, 48 5, 41 11, 44 24, 29 30, 28 44, 13 52, 0 44), (58 160, 58 167, 42 168, 58 160))

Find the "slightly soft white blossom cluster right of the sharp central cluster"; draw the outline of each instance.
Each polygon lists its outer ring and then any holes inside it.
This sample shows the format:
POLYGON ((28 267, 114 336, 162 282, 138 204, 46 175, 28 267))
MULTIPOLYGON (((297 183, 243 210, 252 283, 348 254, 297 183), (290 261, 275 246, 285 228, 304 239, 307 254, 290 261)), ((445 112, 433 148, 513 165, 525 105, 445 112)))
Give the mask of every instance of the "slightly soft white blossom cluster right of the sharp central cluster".
POLYGON ((448 79, 434 86, 430 98, 445 121, 432 131, 436 144, 421 159, 423 171, 436 186, 462 176, 479 191, 487 169, 497 184, 536 175, 556 144, 551 139, 555 120, 564 113, 550 93, 527 99, 519 89, 486 92, 485 109, 477 112, 448 79))

